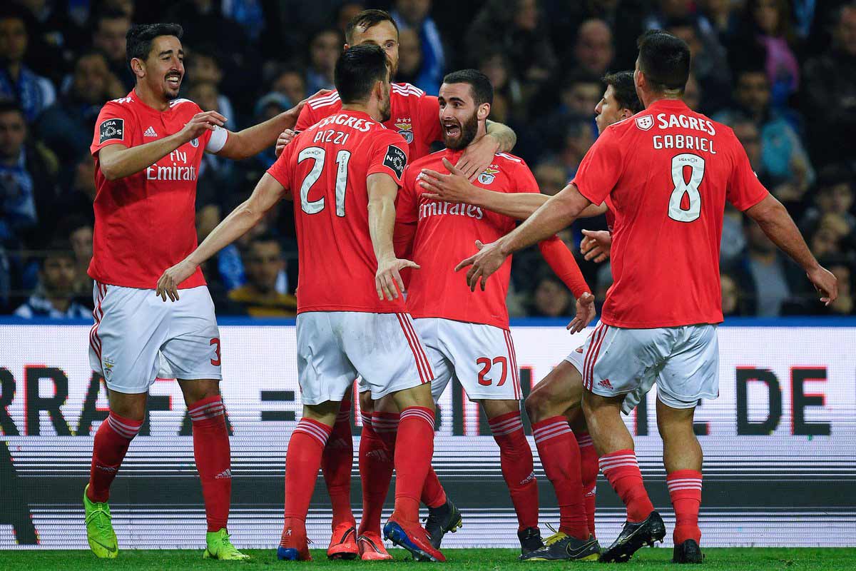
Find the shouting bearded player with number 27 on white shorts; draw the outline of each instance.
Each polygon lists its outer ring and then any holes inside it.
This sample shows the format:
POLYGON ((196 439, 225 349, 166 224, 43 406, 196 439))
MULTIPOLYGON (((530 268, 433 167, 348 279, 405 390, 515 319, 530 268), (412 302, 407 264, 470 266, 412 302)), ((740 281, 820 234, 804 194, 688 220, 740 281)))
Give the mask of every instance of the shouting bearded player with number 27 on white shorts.
MULTIPOLYGON (((456 377, 470 400, 484 409, 500 448, 502 475, 519 523, 520 550, 526 555, 544 544, 538 531, 538 484, 532 449, 520 419, 522 392, 505 305, 511 260, 507 259, 500 270, 500 287, 474 298, 451 271, 454 260, 466 255, 474 239, 494 241, 513 229, 515 220, 478 206, 431 199, 419 185, 423 169, 451 166, 467 146, 484 137, 492 100, 490 80, 475 69, 443 78, 439 118, 446 149, 415 161, 405 171, 397 205, 396 250, 401 248, 400 254, 407 258, 411 256, 406 253, 412 252, 413 261, 421 268, 410 277, 407 309, 413 314, 436 375, 431 384, 434 400, 456 377)), ((538 183, 526 163, 507 153, 496 154, 473 184, 496 193, 538 193, 538 183)), ((539 247, 575 297, 591 298, 574 255, 558 236, 540 242, 539 247)), ((572 324, 573 329, 582 330, 593 317, 594 312, 588 312, 587 318, 572 324)), ((579 471, 576 485, 580 487, 577 523, 586 529, 579 471)), ((585 535, 588 540, 587 531, 585 535)), ((431 543, 439 545, 442 538, 442 532, 437 537, 432 534, 431 543)), ((580 551, 579 558, 597 556, 597 541, 592 538, 590 543, 590 549, 580 551)))

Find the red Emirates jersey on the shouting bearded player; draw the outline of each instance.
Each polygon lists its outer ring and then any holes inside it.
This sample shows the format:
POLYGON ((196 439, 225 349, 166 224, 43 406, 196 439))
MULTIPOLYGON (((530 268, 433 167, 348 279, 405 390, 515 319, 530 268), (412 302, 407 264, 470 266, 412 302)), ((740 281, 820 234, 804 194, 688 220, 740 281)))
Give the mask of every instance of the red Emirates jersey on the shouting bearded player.
MULTIPOLYGON (((410 273, 407 310, 414 318, 446 318, 508 329, 508 280, 511 257, 496 271, 484 291, 473 293, 455 265, 475 253, 475 241, 496 241, 514 229, 514 218, 479 206, 428 199, 417 177, 423 169, 445 172, 443 158, 455 164, 463 151, 435 152, 413 162, 404 173, 396 206, 398 224, 416 224, 412 256, 419 270, 410 273)), ((473 182, 502 193, 538 193, 538 182, 523 159, 497 153, 493 164, 473 182)))

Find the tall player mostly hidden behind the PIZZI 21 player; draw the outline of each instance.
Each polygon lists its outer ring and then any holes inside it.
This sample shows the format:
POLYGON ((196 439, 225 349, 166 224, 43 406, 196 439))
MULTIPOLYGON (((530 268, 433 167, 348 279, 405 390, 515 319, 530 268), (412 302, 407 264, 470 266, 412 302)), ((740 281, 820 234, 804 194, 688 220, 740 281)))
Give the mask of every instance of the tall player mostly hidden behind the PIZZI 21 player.
MULTIPOLYGON (((367 9, 348 22, 344 49, 353 45, 379 45, 386 52, 392 75, 398 68, 398 27, 395 20, 383 10, 367 9)), ((409 158, 415 160, 428 154, 431 144, 442 140, 440 122, 437 120, 439 104, 437 97, 427 95, 421 89, 409 83, 393 84, 389 92, 390 116, 383 122, 386 128, 397 131, 407 141, 409 158)), ((312 100, 300 112, 297 126, 300 131, 326 116, 338 113, 342 101, 337 92, 312 100)), ((514 132, 496 122, 487 122, 487 135, 475 144, 468 146, 458 160, 457 166, 470 180, 482 173, 496 152, 508 152, 514 148, 514 132)), ((277 151, 294 137, 293 131, 282 134, 277 141, 277 151)), ((333 559, 352 558, 358 551, 363 559, 383 560, 391 557, 383 549, 380 541, 379 526, 369 526, 368 521, 380 520, 383 499, 377 506, 377 498, 385 498, 389 478, 368 478, 368 474, 392 473, 391 442, 395 439, 395 427, 398 411, 389 399, 376 406, 365 384, 359 383, 360 413, 363 419, 360 437, 360 474, 364 497, 363 523, 356 528, 354 514, 351 512, 351 464, 354 459, 354 443, 351 436, 350 409, 348 396, 342 401, 342 413, 336 420, 333 433, 326 449, 322 471, 330 503, 333 509, 331 521, 332 537, 327 556, 333 559), (372 422, 377 424, 377 427, 372 422), (378 430, 375 430, 375 429, 378 430), (386 484, 384 485, 384 482, 386 484), (376 508, 377 506, 377 508, 376 508), (377 509, 377 514, 374 510, 377 509), (366 517, 367 515, 367 517, 366 517)), ((430 512, 428 522, 432 537, 439 537, 443 529, 460 522, 460 513, 451 501, 447 501, 443 487, 433 470, 429 473, 424 500, 430 512), (438 519, 439 518, 439 519, 438 519)))

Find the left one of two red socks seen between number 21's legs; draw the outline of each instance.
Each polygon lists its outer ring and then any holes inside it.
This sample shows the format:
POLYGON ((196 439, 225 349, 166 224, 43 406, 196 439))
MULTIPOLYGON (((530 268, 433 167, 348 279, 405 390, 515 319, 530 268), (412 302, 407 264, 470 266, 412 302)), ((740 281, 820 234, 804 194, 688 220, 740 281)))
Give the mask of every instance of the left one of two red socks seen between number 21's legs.
POLYGON ((354 463, 354 438, 351 437, 351 401, 342 401, 336 424, 321 456, 321 471, 333 506, 332 527, 342 523, 355 525, 351 511, 351 467, 354 463))

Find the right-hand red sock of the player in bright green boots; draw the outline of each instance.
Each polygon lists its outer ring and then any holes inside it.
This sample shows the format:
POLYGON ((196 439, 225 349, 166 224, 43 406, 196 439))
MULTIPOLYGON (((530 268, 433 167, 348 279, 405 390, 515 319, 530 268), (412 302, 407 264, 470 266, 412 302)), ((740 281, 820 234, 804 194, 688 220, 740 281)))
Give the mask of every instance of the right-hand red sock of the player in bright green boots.
POLYGON ((202 481, 208 531, 217 532, 229 520, 232 499, 232 468, 226 409, 219 395, 196 401, 187 407, 193 422, 193 457, 202 481))

